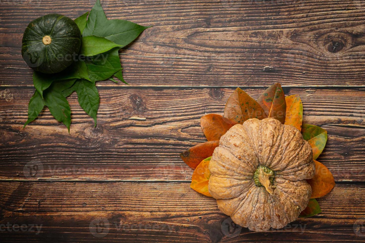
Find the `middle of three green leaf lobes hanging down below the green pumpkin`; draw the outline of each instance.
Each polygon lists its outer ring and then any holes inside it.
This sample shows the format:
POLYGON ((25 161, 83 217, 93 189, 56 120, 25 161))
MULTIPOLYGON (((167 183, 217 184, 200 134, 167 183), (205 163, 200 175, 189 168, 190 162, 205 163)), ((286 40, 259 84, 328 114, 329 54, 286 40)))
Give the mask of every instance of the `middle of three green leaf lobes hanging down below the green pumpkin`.
POLYGON ((49 89, 45 91, 44 102, 49 108, 49 111, 53 117, 63 124, 66 125, 68 131, 70 132, 71 124, 71 109, 67 99, 62 95, 61 91, 52 85, 49 89))

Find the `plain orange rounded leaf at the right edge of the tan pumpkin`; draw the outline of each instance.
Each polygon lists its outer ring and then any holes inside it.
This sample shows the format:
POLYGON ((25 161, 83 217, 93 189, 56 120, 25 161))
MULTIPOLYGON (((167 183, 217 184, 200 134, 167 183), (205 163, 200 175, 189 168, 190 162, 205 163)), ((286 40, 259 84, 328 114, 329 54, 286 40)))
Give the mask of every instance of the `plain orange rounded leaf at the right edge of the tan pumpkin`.
POLYGON ((311 198, 323 197, 335 186, 335 180, 325 165, 316 160, 313 161, 316 173, 312 179, 307 180, 312 187, 311 198))

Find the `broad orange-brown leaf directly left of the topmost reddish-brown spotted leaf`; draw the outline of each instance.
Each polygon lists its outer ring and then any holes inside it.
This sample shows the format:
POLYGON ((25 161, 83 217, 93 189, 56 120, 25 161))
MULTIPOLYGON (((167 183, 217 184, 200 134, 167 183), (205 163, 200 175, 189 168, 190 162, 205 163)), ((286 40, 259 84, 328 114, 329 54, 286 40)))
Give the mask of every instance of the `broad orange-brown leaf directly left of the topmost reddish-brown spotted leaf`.
POLYGON ((257 101, 242 89, 237 88, 227 100, 224 117, 242 124, 250 118, 261 120, 267 116, 257 101))

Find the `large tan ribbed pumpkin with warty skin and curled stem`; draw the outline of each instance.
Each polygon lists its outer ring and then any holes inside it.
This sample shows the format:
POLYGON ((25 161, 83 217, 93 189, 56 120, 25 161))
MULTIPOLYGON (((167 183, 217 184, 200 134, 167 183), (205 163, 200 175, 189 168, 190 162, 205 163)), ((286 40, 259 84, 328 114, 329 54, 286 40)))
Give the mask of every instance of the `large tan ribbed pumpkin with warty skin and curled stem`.
POLYGON ((293 126, 248 119, 228 130, 209 164, 208 189, 233 222, 253 231, 283 228, 310 199, 312 148, 293 126))

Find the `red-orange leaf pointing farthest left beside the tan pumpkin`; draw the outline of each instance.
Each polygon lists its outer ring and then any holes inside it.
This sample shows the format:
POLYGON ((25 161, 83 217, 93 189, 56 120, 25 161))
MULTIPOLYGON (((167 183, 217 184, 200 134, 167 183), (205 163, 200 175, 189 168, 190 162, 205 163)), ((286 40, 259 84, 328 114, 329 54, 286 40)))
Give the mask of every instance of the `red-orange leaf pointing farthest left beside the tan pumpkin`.
POLYGON ((180 157, 190 168, 195 169, 202 160, 212 156, 218 146, 219 140, 203 142, 185 150, 180 157))

